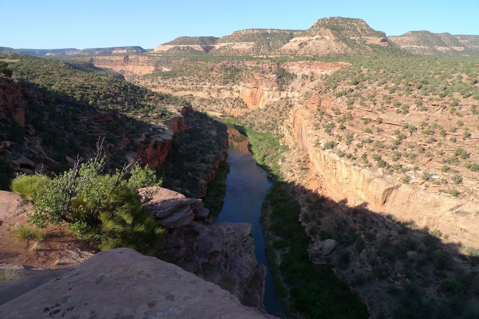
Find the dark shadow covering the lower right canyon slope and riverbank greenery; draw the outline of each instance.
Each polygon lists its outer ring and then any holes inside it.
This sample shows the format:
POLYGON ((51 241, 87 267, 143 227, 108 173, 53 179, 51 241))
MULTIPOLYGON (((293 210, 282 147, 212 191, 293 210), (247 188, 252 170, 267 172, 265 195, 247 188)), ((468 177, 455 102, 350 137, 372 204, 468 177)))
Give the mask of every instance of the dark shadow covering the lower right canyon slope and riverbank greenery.
POLYGON ((266 196, 268 260, 283 278, 276 295, 292 300, 287 317, 367 318, 359 298, 373 318, 476 318, 477 250, 393 212, 345 203, 286 181, 275 181, 266 196), (305 254, 323 272, 305 265, 305 254))

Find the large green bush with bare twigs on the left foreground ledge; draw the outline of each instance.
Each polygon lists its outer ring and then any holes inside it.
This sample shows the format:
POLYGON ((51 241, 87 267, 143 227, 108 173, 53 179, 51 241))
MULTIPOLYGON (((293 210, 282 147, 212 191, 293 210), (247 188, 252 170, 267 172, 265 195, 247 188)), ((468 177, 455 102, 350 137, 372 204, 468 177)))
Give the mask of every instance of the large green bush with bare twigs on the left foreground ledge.
POLYGON ((129 184, 125 169, 102 175, 104 165, 104 158, 97 156, 47 183, 45 193, 34 201, 30 219, 39 227, 66 222, 68 229, 102 250, 129 247, 154 252, 165 230, 141 206, 135 188, 141 179, 129 184))

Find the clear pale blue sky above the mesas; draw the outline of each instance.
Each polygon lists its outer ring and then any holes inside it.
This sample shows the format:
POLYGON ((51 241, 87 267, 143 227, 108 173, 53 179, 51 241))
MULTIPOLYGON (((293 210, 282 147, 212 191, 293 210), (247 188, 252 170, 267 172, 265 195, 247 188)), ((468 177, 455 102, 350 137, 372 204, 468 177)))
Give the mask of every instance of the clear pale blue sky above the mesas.
POLYGON ((387 35, 479 34, 479 0, 0 0, 0 46, 153 48, 182 35, 249 28, 308 29, 330 16, 364 19, 387 35))

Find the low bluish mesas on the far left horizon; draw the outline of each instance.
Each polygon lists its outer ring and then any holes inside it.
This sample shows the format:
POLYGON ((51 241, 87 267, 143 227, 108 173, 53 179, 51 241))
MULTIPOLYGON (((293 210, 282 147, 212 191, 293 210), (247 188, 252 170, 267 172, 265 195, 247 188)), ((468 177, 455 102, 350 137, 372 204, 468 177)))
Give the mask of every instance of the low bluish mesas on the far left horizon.
POLYGON ((67 55, 87 55, 87 54, 121 54, 121 53, 144 53, 147 50, 141 46, 118 46, 111 48, 90 48, 90 49, 13 49, 9 47, 0 47, 0 53, 22 53, 34 56, 67 56, 67 55))

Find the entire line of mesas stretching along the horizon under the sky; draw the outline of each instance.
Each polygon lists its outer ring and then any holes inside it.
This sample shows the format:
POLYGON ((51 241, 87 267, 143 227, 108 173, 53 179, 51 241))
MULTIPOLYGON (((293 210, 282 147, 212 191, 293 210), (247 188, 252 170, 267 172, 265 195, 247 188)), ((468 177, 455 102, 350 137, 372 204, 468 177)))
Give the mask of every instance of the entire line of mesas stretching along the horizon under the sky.
POLYGON ((479 35, 452 35, 448 32, 409 31, 398 36, 372 29, 364 20, 329 17, 315 21, 307 30, 245 29, 223 37, 181 36, 154 49, 120 46, 91 49, 13 49, 0 47, 0 53, 35 56, 70 56, 125 53, 167 55, 329 55, 364 54, 372 51, 401 50, 413 54, 454 56, 479 55, 479 35), (385 49, 392 47, 391 49, 385 49))

